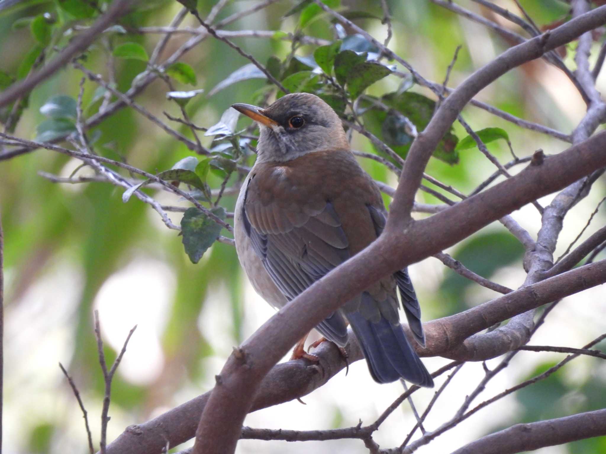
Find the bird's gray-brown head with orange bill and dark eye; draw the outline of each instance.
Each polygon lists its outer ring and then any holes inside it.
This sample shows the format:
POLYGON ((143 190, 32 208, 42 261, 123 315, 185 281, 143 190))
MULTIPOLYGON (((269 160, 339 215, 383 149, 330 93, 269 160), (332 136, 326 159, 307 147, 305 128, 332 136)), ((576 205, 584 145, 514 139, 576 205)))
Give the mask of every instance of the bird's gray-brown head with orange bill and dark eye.
POLYGON ((258 160, 288 161, 314 151, 349 148, 341 119, 315 94, 291 93, 261 109, 231 107, 259 123, 258 160))

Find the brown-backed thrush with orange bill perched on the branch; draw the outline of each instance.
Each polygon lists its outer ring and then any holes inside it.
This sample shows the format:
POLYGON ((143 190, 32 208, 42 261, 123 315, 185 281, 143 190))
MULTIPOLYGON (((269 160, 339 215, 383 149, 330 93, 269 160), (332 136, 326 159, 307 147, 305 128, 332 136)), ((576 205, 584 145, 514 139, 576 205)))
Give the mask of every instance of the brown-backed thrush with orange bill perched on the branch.
MULTIPOLYGON (((320 97, 291 93, 267 108, 231 107, 255 120, 260 131, 255 165, 236 202, 236 249, 253 288, 280 309, 376 240, 387 212, 378 186, 351 151, 341 119, 320 97)), ((347 301, 316 329, 342 349, 349 324, 378 383, 403 378, 433 387, 399 323, 396 292, 413 337, 425 346, 406 268, 347 301)), ((309 357, 304 340, 295 357, 309 357)))

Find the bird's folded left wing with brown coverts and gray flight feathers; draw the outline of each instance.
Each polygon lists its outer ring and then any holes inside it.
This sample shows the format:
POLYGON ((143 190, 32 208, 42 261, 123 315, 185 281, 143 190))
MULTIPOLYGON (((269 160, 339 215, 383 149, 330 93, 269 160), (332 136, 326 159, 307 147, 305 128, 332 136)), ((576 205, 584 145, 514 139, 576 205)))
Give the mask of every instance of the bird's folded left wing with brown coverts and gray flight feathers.
MULTIPOLYGON (((252 177, 242 206, 244 229, 265 270, 288 300, 350 257, 348 241, 330 202, 264 203, 252 177)), ((318 325, 325 338, 345 346, 347 324, 338 312, 318 325)))

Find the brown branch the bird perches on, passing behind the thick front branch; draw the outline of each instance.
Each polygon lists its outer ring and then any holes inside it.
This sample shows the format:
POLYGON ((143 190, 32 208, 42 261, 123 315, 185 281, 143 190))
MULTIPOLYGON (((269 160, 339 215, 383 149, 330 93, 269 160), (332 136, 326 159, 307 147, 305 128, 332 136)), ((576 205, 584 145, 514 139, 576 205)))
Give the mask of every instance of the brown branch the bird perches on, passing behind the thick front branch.
MULTIPOLYGON (((430 321, 424 324, 427 347, 425 349, 419 347, 417 351, 421 356, 454 357, 459 351, 456 346, 470 334, 604 281, 606 281, 606 260, 582 266, 533 286, 511 292, 461 314, 430 321)), ((353 335, 346 349, 350 364, 363 358, 353 335)), ((250 411, 305 396, 324 386, 345 367, 342 355, 329 342, 322 343, 313 354, 319 358, 317 365, 310 365, 305 360, 297 360, 274 366, 261 381, 250 411)), ((467 360, 488 359, 469 356, 463 350, 462 357, 467 360)), ((210 393, 211 391, 206 392, 146 423, 127 427, 107 446, 107 453, 156 454, 164 449, 167 441, 170 447, 187 441, 195 436, 198 419, 207 405, 210 393)))

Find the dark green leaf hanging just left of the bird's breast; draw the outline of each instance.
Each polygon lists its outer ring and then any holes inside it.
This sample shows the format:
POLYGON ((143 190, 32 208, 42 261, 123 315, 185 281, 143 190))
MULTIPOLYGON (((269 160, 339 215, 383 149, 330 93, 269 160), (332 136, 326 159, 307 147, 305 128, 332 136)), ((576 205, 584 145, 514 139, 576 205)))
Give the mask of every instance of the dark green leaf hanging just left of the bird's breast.
MULTIPOLYGON (((216 206, 210 210, 219 219, 225 219, 225 210, 216 206)), ((189 208, 181 219, 183 246, 191 263, 198 263, 204 252, 218 239, 222 226, 198 208, 189 208)))

